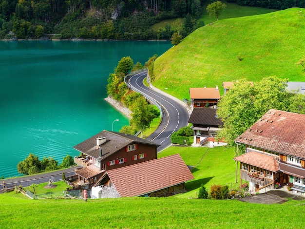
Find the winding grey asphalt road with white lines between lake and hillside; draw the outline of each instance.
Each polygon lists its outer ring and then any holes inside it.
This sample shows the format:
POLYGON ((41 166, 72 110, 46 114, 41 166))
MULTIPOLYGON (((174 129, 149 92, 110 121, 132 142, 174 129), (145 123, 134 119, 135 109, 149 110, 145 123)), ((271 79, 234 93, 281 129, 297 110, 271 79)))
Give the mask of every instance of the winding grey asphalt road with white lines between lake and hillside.
MULTIPOLYGON (((156 104, 159 109, 162 108, 162 122, 154 134, 149 136, 148 140, 161 145, 158 147, 158 152, 164 150, 171 143, 171 135, 173 132, 188 125, 189 110, 186 104, 167 95, 160 89, 152 89, 144 85, 143 80, 147 76, 147 70, 139 71, 125 77, 125 83, 134 91, 141 93, 156 104)), ((166 89, 164 89, 166 90, 166 89)))

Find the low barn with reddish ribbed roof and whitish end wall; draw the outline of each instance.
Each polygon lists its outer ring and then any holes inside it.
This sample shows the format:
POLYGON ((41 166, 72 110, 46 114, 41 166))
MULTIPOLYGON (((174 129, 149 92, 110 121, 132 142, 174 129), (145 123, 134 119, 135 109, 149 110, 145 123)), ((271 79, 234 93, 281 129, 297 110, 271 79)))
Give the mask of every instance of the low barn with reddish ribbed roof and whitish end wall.
POLYGON ((194 179, 179 154, 106 171, 92 188, 92 198, 160 197, 185 191, 194 179))

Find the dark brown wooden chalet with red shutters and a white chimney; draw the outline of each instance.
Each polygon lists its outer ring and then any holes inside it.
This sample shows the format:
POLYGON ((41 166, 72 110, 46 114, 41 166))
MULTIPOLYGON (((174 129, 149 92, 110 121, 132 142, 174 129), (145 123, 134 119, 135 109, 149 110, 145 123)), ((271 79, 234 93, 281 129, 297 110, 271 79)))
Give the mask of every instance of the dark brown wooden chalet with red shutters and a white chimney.
POLYGON ((91 188, 108 170, 129 166, 157 158, 157 147, 148 140, 111 131, 102 131, 74 147, 80 156, 74 162, 80 184, 91 188))

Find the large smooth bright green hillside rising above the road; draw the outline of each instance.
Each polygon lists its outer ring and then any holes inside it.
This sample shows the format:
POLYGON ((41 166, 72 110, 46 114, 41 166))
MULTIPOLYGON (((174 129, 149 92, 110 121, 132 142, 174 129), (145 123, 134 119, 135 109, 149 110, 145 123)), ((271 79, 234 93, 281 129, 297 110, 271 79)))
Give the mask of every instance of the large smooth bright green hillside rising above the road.
POLYGON ((302 67, 295 64, 305 56, 304 41, 302 8, 219 20, 197 29, 157 58, 153 84, 182 99, 189 98, 190 87, 221 86, 239 78, 304 81, 302 67))

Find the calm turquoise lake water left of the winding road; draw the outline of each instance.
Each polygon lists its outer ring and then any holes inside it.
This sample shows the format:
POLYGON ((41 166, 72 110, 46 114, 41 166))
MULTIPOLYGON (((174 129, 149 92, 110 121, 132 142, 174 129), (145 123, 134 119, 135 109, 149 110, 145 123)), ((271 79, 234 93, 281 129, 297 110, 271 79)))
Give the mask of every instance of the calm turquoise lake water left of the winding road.
POLYGON ((0 41, 0 176, 19 175, 33 153, 59 163, 72 147, 126 117, 104 98, 122 57, 144 64, 171 48, 163 41, 0 41))

